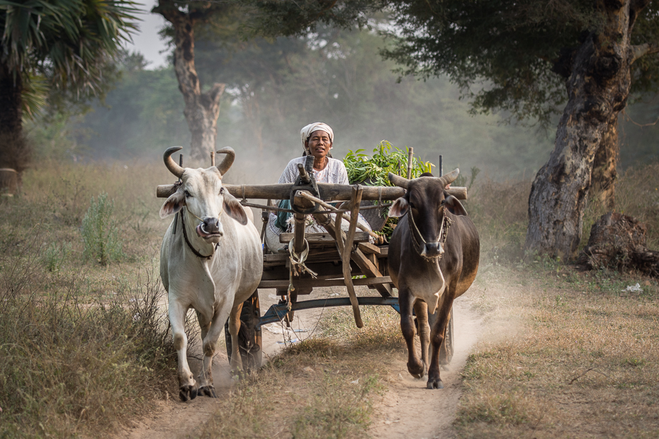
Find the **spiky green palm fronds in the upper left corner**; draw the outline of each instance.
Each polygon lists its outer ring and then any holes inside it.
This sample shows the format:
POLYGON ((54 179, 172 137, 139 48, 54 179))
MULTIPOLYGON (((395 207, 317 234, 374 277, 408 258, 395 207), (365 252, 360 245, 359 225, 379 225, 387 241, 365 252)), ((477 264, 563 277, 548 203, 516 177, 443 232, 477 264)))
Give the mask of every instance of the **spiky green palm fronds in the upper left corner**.
POLYGON ((96 94, 103 69, 137 29, 135 6, 125 0, 0 0, 0 62, 14 74, 38 72, 56 88, 96 94))

